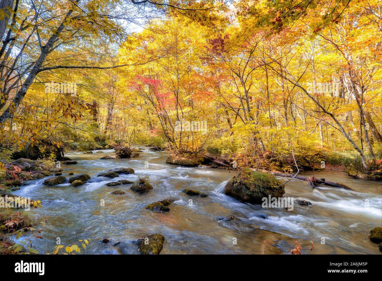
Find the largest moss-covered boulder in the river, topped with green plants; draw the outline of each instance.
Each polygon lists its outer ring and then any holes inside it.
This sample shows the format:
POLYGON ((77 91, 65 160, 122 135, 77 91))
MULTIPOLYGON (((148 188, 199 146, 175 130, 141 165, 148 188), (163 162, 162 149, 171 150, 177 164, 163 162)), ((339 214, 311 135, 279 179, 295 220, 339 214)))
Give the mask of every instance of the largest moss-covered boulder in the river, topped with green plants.
POLYGON ((253 172, 244 168, 224 187, 224 194, 252 204, 261 204, 262 198, 283 197, 284 185, 272 174, 253 172))

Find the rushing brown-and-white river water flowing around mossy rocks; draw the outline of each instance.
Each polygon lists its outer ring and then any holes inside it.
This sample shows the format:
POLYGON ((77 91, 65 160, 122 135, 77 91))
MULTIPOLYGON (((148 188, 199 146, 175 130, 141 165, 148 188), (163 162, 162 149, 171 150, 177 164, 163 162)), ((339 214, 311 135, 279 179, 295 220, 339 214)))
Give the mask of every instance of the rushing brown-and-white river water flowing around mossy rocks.
POLYGON ((300 240, 302 254, 381 254, 377 244, 369 241, 369 231, 382 224, 381 181, 353 179, 330 170, 304 172, 301 175, 341 182, 355 191, 312 190, 308 182, 293 180, 285 185, 284 197, 295 199, 293 210, 287 211, 243 203, 223 194, 236 172, 170 165, 165 163, 165 152, 154 151, 145 151, 138 158, 98 160, 113 152, 103 151, 70 154, 78 164, 62 165, 63 175, 87 173, 92 182, 79 187, 68 183, 43 186, 44 178, 28 181, 14 192, 42 202, 42 208, 31 209, 29 215, 35 220, 34 228, 44 229, 39 234, 43 239, 31 238, 30 233, 21 238, 30 239, 39 253, 52 252, 58 238, 64 246, 90 238, 92 243, 81 254, 138 254, 134 240, 161 233, 165 236, 161 254, 284 254, 300 240), (97 178, 98 173, 118 167, 131 167, 135 174, 97 178), (135 180, 137 174, 150 175, 154 189, 139 194, 129 189, 130 184, 105 186, 119 179, 135 180), (100 179, 103 181, 97 182, 100 179), (182 192, 185 188, 209 197, 189 196, 182 192), (117 189, 126 194, 110 194, 117 189), (168 206, 170 212, 145 209, 166 198, 174 200, 168 206), (296 199, 312 205, 300 206, 296 199), (227 216, 236 219, 222 219, 227 216), (105 238, 110 242, 102 243, 105 238))

